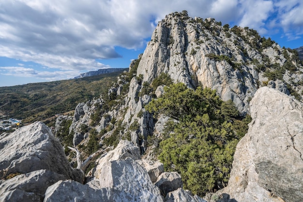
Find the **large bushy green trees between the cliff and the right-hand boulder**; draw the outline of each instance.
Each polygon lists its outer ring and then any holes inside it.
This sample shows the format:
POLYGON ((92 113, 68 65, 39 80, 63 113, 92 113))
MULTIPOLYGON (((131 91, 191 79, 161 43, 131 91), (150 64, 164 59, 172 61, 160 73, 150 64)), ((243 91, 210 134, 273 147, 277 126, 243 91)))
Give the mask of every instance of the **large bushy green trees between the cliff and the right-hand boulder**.
POLYGON ((223 102, 209 88, 192 90, 177 83, 165 92, 145 107, 178 120, 166 124, 158 158, 167 171, 178 171, 184 188, 195 194, 223 188, 250 117, 240 117, 233 102, 223 102))

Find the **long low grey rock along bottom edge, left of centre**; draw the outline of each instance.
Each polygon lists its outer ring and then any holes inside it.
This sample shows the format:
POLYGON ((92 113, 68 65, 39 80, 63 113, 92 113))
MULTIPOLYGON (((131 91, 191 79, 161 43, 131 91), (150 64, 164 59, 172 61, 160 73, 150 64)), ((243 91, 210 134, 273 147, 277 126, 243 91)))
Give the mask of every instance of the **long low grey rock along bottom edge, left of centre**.
POLYGON ((59 181, 49 186, 44 202, 133 202, 135 198, 112 188, 93 189, 75 181, 59 181))

